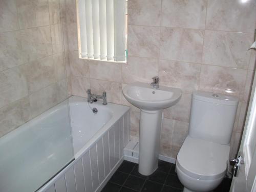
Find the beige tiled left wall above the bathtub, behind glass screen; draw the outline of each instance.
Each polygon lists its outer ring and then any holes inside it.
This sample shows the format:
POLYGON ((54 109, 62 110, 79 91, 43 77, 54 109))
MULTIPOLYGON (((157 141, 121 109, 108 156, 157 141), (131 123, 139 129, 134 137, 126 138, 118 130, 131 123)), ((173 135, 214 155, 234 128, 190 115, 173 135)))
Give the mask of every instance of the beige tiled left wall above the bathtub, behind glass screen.
POLYGON ((67 98, 62 19, 58 0, 0 1, 0 137, 67 98))

